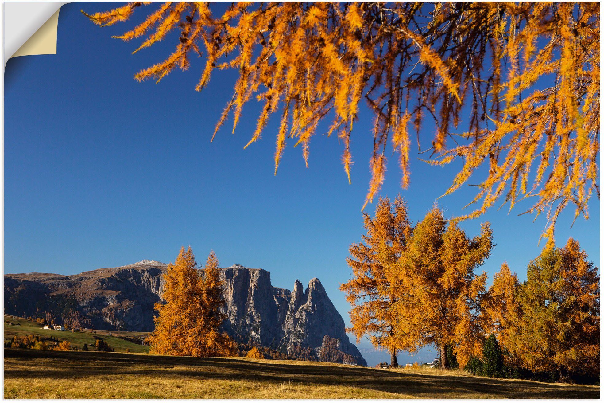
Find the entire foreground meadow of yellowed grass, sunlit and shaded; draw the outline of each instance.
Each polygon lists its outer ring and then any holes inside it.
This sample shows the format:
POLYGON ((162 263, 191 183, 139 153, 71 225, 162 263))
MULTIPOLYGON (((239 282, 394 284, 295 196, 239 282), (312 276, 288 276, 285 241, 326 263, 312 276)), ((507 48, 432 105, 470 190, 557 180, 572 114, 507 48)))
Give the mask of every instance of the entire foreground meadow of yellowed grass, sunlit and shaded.
POLYGON ((598 398, 597 386, 249 358, 4 350, 5 398, 598 398))

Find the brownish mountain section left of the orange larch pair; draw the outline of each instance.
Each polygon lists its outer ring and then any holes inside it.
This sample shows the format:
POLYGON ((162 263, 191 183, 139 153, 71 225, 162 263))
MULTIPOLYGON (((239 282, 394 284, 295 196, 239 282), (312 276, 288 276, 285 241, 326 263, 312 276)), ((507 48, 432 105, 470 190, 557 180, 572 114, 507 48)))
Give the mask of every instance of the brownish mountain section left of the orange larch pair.
POLYGON ((5 274, 4 311, 54 318, 66 326, 150 332, 166 268, 164 263, 143 260, 71 276, 5 274))

